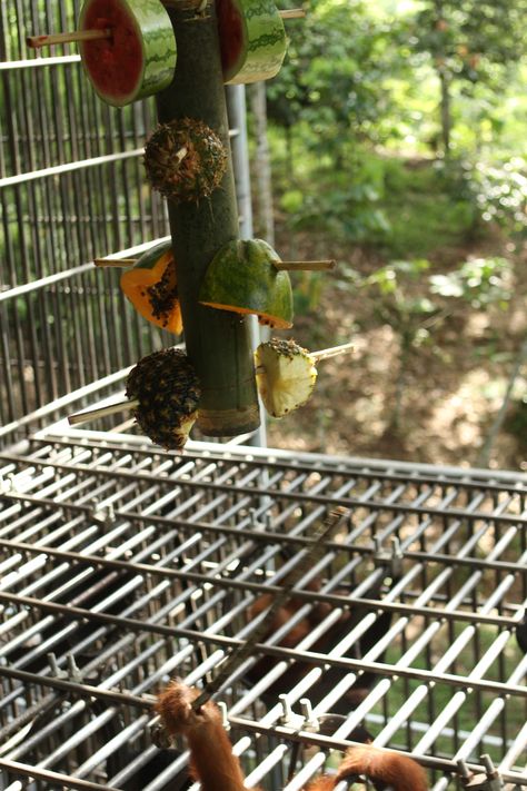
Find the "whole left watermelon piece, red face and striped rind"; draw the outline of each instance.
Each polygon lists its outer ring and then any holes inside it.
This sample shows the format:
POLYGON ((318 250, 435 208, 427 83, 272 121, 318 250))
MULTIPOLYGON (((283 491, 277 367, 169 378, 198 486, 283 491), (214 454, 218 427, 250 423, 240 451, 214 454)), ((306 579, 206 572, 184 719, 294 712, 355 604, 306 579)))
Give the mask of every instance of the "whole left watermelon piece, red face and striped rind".
POLYGON ((82 65, 108 105, 123 107, 172 81, 176 38, 160 0, 87 0, 78 27, 112 33, 80 43, 82 65))

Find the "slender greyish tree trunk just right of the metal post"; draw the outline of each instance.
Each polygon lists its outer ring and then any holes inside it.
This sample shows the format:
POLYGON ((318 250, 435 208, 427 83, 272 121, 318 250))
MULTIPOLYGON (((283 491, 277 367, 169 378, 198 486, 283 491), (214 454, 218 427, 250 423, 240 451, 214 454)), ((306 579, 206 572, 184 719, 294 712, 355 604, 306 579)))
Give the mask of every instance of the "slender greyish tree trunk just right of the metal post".
POLYGON ((250 106, 255 119, 256 137, 256 226, 261 228, 266 241, 275 246, 275 219, 272 216, 272 184, 269 141, 267 139, 266 83, 255 82, 250 88, 250 106))

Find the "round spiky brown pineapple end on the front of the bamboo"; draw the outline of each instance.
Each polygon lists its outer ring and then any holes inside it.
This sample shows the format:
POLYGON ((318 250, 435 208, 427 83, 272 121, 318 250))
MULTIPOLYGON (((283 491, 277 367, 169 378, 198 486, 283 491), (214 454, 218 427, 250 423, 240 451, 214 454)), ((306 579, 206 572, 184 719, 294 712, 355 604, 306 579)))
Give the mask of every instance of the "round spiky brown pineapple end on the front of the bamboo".
POLYGON ((145 146, 152 189, 175 202, 208 198, 227 169, 227 150, 206 123, 182 118, 161 123, 145 146))

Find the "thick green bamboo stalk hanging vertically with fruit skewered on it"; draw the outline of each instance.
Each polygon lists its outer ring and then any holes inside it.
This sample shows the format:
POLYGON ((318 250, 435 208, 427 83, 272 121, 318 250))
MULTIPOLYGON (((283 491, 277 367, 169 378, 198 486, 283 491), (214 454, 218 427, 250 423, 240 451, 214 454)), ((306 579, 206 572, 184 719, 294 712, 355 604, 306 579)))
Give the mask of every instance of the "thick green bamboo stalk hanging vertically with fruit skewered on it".
POLYGON ((236 436, 259 426, 249 325, 238 314, 198 304, 205 271, 222 245, 236 239, 238 208, 221 73, 216 11, 168 8, 178 45, 172 85, 158 95, 161 123, 196 118, 221 138, 229 152, 226 176, 210 198, 168 201, 187 354, 201 383, 197 422, 207 436, 236 436))

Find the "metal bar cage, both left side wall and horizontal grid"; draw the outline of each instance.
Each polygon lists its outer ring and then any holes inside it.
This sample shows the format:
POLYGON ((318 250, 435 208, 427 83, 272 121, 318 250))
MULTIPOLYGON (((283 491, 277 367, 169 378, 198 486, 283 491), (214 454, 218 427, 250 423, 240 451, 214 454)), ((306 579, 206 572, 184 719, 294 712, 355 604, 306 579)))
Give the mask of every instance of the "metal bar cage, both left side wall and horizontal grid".
POLYGON ((0 789, 191 787, 156 694, 215 678, 335 506, 296 614, 217 698, 248 785, 298 791, 362 726, 434 791, 525 789, 527 476, 68 425, 173 343, 91 263, 168 234, 141 164, 153 105, 105 106, 68 45, 26 49, 78 10, 0 2, 0 789))

